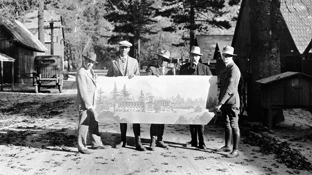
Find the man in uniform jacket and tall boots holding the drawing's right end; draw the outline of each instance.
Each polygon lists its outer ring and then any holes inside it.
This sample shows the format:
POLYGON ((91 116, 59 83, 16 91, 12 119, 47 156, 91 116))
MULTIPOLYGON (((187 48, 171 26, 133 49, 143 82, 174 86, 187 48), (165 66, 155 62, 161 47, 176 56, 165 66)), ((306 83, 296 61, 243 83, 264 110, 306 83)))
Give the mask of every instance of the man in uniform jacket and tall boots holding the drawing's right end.
POLYGON ((215 149, 217 152, 232 152, 227 157, 239 156, 238 143, 240 139, 240 131, 238 127, 239 114, 239 94, 238 83, 240 79, 240 71, 233 61, 234 48, 224 46, 222 51, 222 60, 225 69, 220 75, 220 94, 219 103, 215 106, 217 110, 222 111, 222 118, 225 123, 225 145, 215 149), (233 149, 231 149, 231 140, 233 135, 233 149))

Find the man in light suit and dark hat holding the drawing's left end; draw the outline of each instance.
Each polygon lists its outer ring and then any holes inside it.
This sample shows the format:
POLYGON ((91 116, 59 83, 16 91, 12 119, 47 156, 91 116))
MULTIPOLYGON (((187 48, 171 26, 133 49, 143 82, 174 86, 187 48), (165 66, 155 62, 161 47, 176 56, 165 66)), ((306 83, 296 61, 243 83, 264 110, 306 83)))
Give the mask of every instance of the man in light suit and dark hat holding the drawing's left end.
POLYGON ((77 107, 79 110, 78 123, 78 152, 82 154, 91 154, 87 149, 87 134, 89 131, 93 149, 106 148, 101 141, 98 133, 98 122, 96 121, 93 105, 94 95, 97 90, 96 74, 92 67, 96 61, 97 55, 90 53, 84 56, 84 64, 80 67, 76 75, 77 85, 77 107))

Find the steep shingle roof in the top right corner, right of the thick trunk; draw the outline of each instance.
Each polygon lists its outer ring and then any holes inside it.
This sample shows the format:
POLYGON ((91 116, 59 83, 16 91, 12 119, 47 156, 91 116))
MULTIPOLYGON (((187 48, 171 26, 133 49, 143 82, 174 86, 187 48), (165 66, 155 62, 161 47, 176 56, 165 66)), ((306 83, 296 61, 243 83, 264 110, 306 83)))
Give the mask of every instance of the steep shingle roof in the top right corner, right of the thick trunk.
POLYGON ((312 39, 312 0, 285 0, 280 11, 300 53, 312 39))

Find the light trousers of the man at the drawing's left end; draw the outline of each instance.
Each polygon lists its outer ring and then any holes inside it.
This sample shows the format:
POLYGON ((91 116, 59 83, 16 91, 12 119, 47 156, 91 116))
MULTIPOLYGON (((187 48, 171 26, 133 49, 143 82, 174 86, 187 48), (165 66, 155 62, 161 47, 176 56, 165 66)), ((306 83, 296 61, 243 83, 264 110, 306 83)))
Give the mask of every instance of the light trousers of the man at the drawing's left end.
POLYGON ((94 115, 87 110, 79 111, 78 123, 78 150, 87 149, 87 135, 90 135, 92 147, 102 144, 101 137, 98 133, 98 122, 95 120, 94 115))

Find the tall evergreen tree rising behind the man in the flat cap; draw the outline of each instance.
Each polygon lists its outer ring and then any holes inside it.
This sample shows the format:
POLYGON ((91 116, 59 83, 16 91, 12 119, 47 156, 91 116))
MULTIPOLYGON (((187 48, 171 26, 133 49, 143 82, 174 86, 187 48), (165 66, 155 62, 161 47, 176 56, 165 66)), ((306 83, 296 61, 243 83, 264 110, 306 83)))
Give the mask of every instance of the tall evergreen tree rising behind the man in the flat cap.
POLYGON ((114 22, 114 32, 117 35, 109 39, 110 43, 120 40, 128 40, 134 43, 130 56, 135 57, 140 64, 140 42, 146 42, 146 34, 155 34, 152 24, 157 21, 153 19, 156 8, 155 0, 107 0, 107 15, 104 17, 114 22))

